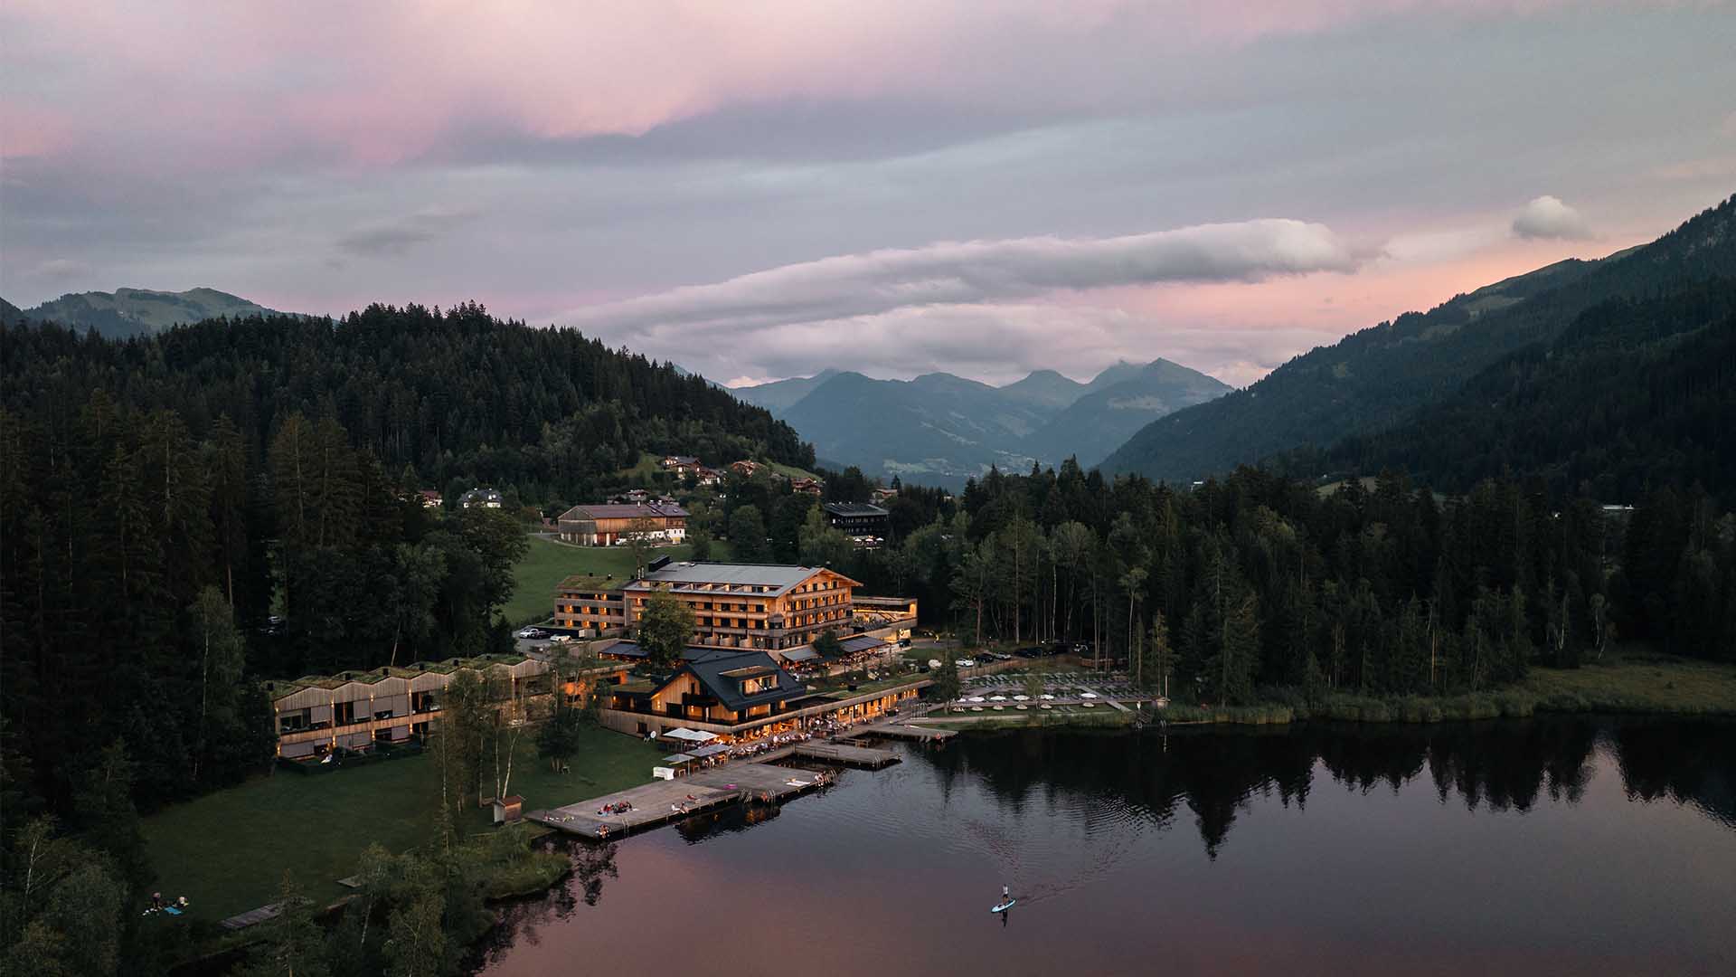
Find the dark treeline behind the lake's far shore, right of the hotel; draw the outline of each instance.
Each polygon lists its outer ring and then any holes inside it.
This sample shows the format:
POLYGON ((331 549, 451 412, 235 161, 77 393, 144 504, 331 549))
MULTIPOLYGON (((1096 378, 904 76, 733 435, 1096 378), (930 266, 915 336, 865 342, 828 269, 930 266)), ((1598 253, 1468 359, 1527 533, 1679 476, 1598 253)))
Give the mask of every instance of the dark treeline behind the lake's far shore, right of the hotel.
POLYGON ((1616 638, 1736 661, 1736 516, 1701 490, 1606 513, 1540 480, 1439 499, 1240 469, 1177 492, 1068 462, 991 471, 845 570, 969 638, 1085 641, 1179 701, 1484 690, 1616 638))

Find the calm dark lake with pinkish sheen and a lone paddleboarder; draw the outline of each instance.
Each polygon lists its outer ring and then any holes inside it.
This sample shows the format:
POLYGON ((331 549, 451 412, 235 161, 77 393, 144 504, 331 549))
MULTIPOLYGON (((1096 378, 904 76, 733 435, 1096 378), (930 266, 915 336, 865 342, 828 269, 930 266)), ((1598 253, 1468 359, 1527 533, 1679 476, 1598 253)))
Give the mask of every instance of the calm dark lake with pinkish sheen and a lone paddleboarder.
POLYGON ((1731 723, 899 749, 752 824, 575 845, 479 972, 1736 974, 1731 723))

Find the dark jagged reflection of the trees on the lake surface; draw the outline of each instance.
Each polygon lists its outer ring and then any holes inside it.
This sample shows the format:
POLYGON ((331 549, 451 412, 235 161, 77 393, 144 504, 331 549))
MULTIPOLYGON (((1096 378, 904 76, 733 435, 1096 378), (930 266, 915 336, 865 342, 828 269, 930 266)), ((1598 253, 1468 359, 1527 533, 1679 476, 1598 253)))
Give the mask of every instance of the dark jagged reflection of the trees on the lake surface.
POLYGON ((1441 803, 1531 810, 1542 796, 1578 803, 1599 744, 1613 749, 1628 796, 1693 803, 1736 824, 1736 723, 1543 718, 1444 725, 1333 725, 1147 732, 1012 730, 953 741, 924 758, 943 791, 976 779, 1014 812, 1061 793, 1109 794, 1158 824, 1194 815, 1215 855, 1255 794, 1305 807, 1316 763, 1352 791, 1397 791, 1427 772, 1441 803))

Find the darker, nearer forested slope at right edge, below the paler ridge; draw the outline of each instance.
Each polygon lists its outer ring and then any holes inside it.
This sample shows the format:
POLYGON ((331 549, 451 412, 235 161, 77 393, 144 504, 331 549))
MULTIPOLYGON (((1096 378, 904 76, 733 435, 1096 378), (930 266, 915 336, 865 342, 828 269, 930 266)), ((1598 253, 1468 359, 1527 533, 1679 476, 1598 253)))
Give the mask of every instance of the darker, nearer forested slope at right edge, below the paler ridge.
POLYGON ((1436 490, 1540 476, 1555 497, 1703 485, 1736 502, 1736 280, 1611 299, 1503 356, 1415 421, 1349 438, 1297 473, 1410 471, 1436 490))

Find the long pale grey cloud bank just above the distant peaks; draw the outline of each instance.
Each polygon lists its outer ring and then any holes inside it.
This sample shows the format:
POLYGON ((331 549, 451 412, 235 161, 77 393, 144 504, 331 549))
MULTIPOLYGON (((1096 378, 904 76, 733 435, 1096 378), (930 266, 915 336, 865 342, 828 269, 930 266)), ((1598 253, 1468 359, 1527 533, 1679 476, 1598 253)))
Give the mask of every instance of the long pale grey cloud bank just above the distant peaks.
MULTIPOLYGON (((1092 304, 1109 289, 1252 283, 1352 271, 1323 224, 1262 219, 1111 238, 943 242, 771 268, 575 309, 557 325, 675 360, 713 377, 795 376, 823 365, 873 372, 944 369, 1010 381, 1029 363, 1090 376, 1116 358, 1234 363, 1250 336, 1092 304)), ((1293 342, 1283 329, 1267 339, 1293 342)), ((1267 353, 1267 339, 1255 342, 1267 353)), ((1246 381, 1240 369, 1233 379, 1246 381)))

